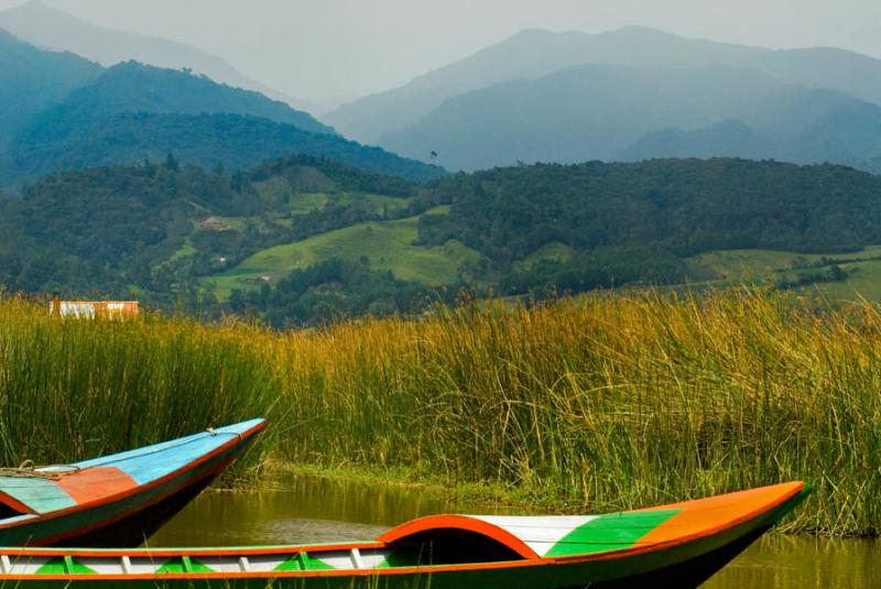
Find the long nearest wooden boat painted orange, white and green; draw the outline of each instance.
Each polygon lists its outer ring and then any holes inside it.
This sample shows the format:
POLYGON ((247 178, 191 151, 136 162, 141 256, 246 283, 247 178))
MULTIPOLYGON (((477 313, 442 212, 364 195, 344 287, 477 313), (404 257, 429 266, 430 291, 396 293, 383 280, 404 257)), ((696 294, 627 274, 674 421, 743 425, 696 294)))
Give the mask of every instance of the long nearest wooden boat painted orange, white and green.
POLYGON ((26 587, 697 587, 793 510, 802 482, 585 516, 437 515, 373 542, 262 548, 0 549, 26 587))

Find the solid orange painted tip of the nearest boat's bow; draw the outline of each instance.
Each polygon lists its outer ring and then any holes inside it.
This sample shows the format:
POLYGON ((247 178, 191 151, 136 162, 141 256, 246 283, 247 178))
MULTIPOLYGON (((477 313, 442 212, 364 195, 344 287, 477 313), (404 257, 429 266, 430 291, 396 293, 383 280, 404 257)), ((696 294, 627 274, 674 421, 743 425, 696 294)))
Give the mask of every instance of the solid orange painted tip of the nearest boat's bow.
POLYGON ((649 532, 638 544, 676 544, 695 536, 711 535, 770 511, 803 489, 803 482, 787 482, 643 510, 683 511, 649 532))

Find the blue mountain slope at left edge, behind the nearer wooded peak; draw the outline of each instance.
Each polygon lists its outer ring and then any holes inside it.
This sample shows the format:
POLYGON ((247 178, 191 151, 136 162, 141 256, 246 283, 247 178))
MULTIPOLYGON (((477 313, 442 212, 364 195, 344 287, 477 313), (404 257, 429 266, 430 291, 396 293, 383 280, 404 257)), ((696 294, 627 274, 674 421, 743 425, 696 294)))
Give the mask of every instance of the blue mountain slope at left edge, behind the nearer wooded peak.
POLYGON ((0 151, 31 117, 100 75, 98 64, 37 50, 0 29, 0 151))

